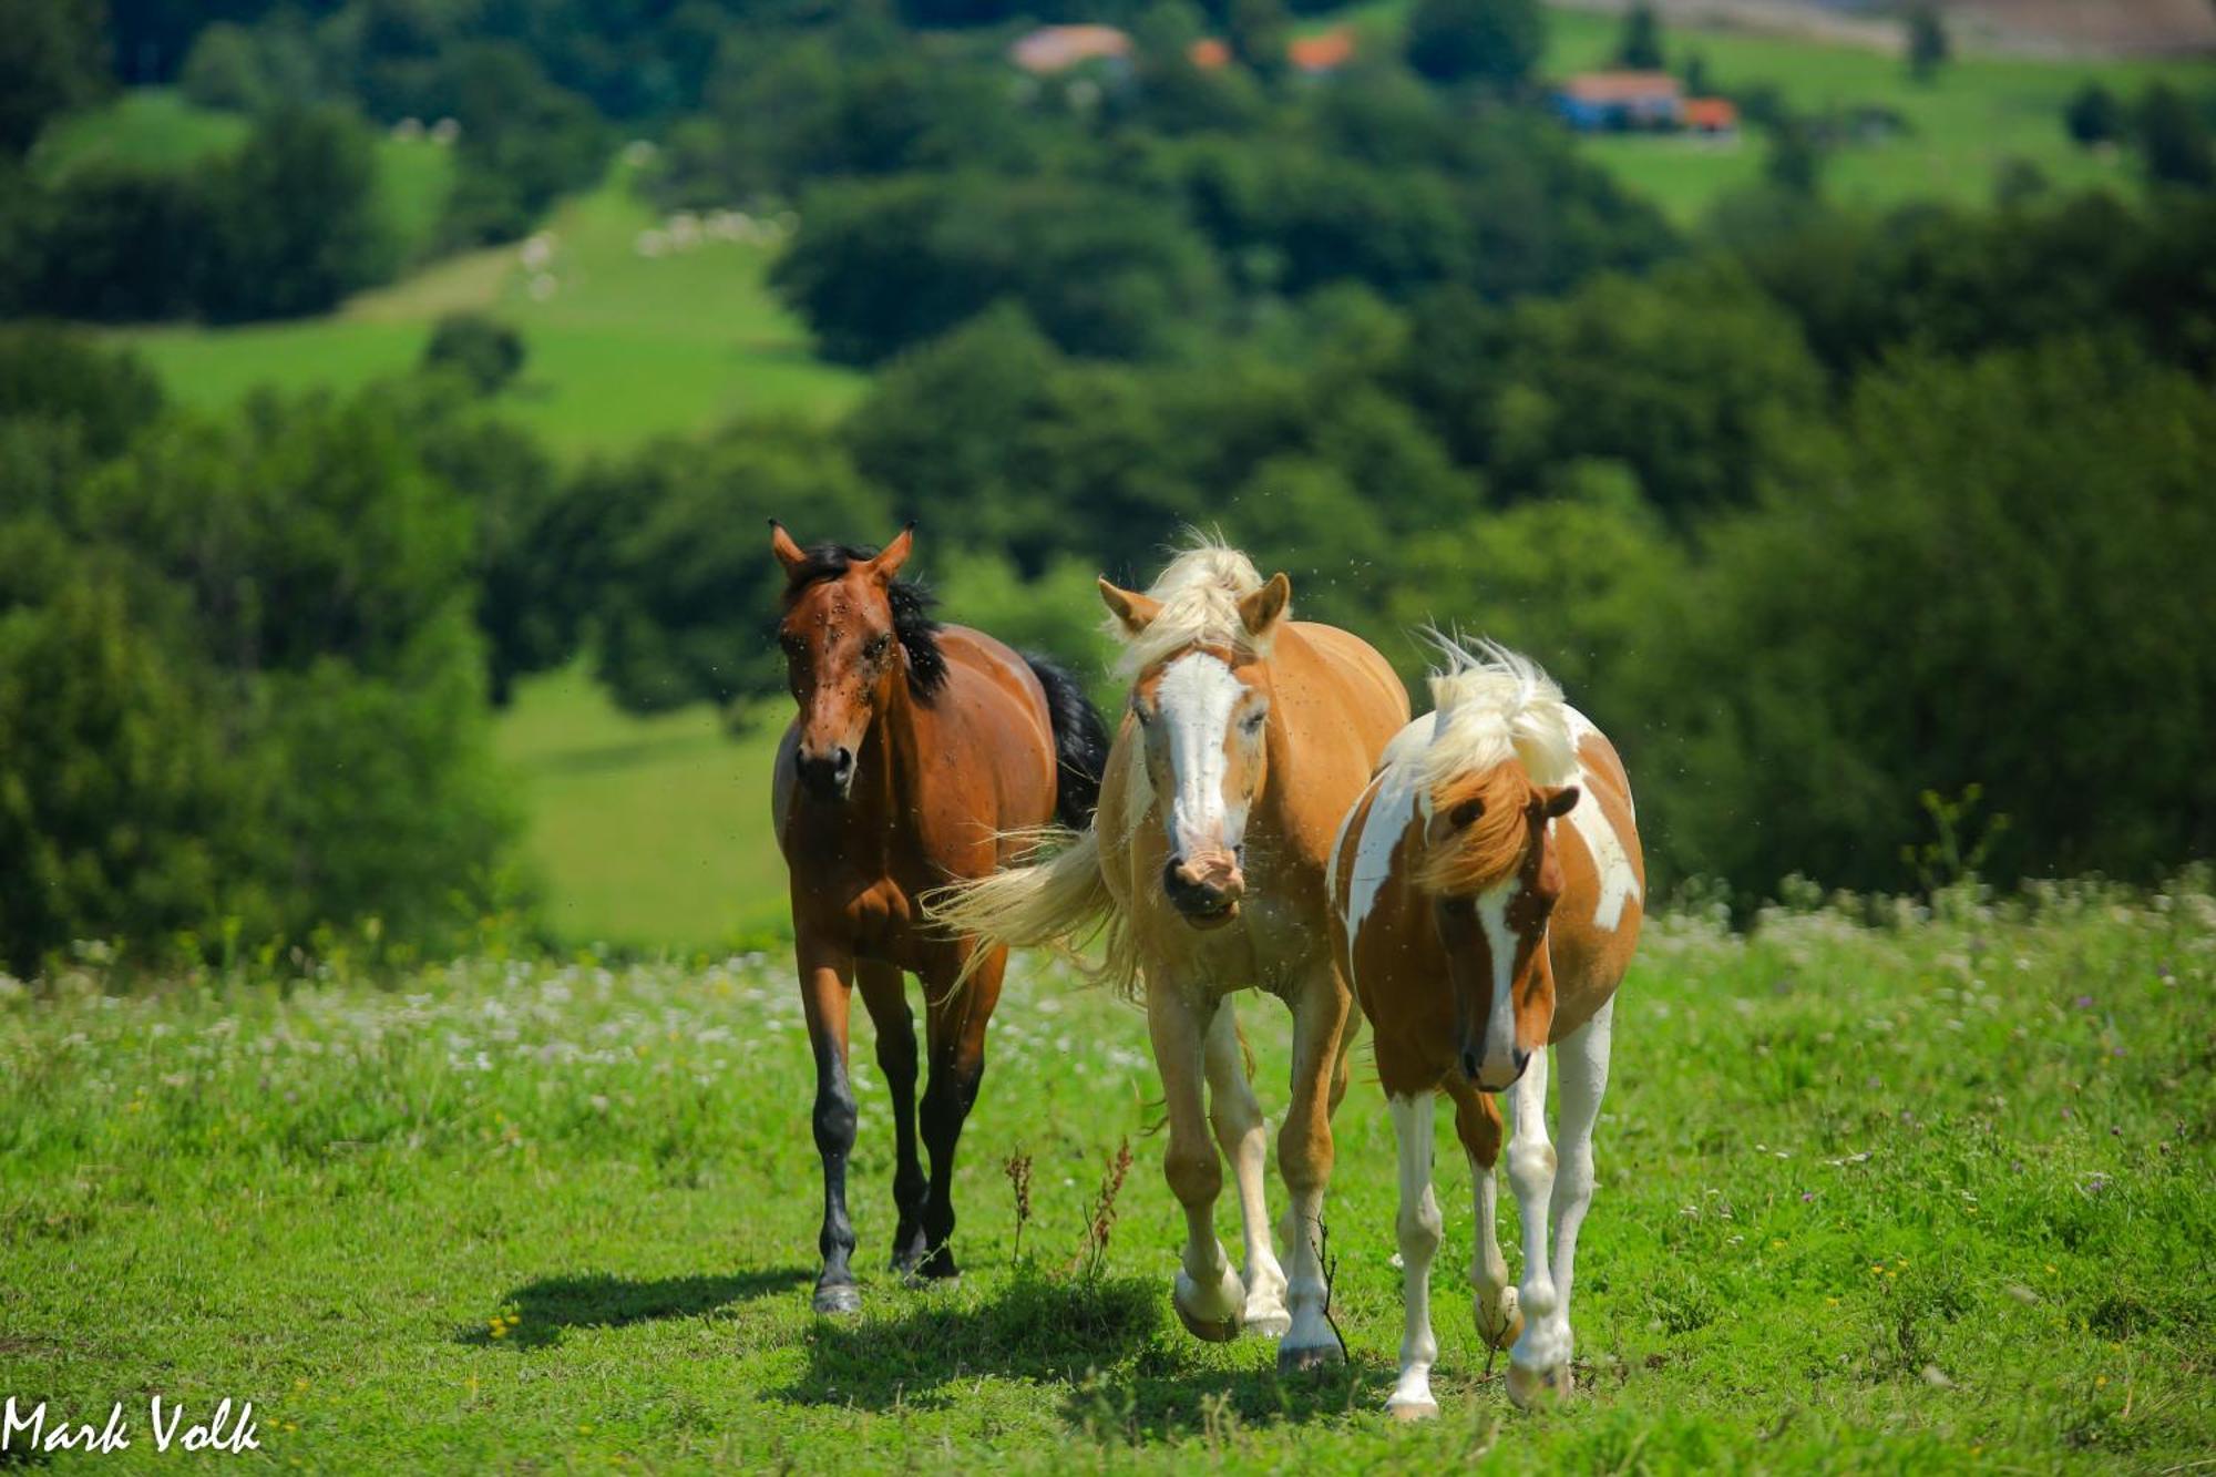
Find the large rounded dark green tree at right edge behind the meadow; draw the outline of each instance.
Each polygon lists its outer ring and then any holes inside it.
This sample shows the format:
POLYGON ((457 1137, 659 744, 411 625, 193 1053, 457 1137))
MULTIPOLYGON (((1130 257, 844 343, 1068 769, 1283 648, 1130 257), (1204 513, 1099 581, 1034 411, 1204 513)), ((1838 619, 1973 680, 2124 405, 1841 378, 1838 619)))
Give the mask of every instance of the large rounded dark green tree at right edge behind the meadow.
POLYGON ((1711 526, 1638 663, 1680 872, 1901 887, 1919 796, 1981 785, 1994 880, 2216 845, 2207 388, 2116 342, 1866 375, 1835 452, 1711 526))

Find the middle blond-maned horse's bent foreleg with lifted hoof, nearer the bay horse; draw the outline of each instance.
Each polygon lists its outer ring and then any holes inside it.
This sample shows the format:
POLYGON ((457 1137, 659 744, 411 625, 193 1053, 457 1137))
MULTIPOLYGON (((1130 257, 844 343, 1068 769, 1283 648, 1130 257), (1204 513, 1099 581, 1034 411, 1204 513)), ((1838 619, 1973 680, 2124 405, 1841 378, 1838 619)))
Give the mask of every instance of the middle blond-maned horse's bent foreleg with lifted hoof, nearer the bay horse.
POLYGON ((1170 1118, 1170 1144, 1161 1153, 1161 1173, 1170 1193, 1186 1209, 1186 1253, 1179 1260, 1170 1302, 1194 1337, 1221 1342, 1239 1335, 1245 1315, 1245 1284, 1223 1255, 1217 1240, 1217 1195, 1223 1191, 1223 1167, 1208 1138, 1208 1113, 1201 1107, 1206 1071, 1206 1033, 1219 1009, 1217 1000, 1194 1000, 1177 982, 1148 978, 1146 1027, 1155 1042, 1155 1069, 1161 1071, 1161 1100, 1170 1118))

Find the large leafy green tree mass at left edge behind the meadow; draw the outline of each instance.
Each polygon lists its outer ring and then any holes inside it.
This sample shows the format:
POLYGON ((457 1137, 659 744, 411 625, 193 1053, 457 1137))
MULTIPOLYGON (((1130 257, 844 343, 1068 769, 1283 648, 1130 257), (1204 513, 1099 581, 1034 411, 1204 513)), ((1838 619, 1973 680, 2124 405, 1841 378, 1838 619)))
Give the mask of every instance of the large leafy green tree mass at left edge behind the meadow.
POLYGON ((73 437, 0 419, 0 958, 465 929, 514 816, 470 508, 401 417, 261 397, 106 464, 73 437))

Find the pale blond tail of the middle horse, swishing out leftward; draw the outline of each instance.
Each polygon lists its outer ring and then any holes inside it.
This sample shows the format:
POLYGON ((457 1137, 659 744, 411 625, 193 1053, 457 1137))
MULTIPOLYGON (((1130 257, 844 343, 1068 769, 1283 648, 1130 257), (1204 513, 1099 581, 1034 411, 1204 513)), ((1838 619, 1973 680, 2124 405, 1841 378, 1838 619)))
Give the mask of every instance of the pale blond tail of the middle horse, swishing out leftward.
MULTIPOLYGON (((1084 832, 1042 832, 1042 843, 1068 838, 1059 852, 1028 867, 1006 867, 968 883, 948 883, 924 894, 924 916, 948 934, 971 934, 977 949, 962 978, 999 945, 1048 947, 1075 960, 1075 945, 1108 929, 1108 956, 1095 969, 1079 969, 1130 994, 1137 980, 1128 931, 1115 894, 1101 878, 1101 843, 1084 832)), ((1042 845, 1042 849, 1044 849, 1042 845)), ((957 980, 960 985, 962 980, 957 980)))

